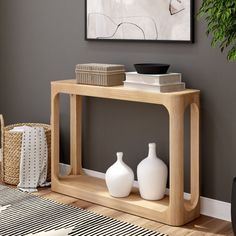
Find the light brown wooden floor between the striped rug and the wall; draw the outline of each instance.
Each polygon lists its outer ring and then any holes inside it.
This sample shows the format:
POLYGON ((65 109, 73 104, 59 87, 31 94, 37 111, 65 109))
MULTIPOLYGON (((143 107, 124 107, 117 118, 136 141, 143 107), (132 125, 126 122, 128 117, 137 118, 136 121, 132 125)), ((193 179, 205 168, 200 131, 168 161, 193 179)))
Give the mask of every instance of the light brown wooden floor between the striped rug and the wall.
POLYGON ((155 221, 143 219, 134 215, 129 215, 117 210, 95 205, 90 202, 85 202, 76 198, 58 194, 52 192, 50 188, 40 189, 40 191, 35 194, 43 196, 45 198, 53 199, 57 202, 71 204, 102 215, 110 216, 118 220, 130 222, 135 225, 142 226, 144 228, 156 230, 161 233, 166 233, 170 236, 234 235, 230 222, 211 218, 208 216, 201 216, 197 220, 182 227, 171 227, 155 221))

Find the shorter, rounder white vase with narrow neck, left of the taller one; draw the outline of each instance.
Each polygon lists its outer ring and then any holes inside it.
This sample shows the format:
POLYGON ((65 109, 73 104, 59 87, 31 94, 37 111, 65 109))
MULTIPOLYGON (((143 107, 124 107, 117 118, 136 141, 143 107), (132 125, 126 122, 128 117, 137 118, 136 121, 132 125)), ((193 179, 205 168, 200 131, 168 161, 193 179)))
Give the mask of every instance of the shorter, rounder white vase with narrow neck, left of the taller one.
POLYGON ((123 162, 123 152, 117 152, 117 161, 107 169, 105 180, 112 197, 127 197, 132 189, 134 173, 123 162))

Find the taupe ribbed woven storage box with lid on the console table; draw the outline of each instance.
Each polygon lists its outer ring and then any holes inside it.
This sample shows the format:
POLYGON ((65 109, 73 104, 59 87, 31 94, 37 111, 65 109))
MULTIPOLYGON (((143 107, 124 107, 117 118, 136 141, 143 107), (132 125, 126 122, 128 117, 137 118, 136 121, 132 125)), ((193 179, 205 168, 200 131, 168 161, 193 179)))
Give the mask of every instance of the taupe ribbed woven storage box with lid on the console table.
POLYGON ((125 79, 124 66, 116 64, 78 64, 75 73, 79 84, 116 86, 125 79))

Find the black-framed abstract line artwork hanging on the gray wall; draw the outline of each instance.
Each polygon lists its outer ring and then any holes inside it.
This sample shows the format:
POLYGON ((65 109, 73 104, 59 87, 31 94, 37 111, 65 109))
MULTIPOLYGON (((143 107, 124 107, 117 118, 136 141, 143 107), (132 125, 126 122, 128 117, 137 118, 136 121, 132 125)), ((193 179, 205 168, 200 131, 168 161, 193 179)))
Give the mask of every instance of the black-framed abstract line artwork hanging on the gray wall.
POLYGON ((85 39, 193 42, 193 11, 193 0, 85 0, 85 39))

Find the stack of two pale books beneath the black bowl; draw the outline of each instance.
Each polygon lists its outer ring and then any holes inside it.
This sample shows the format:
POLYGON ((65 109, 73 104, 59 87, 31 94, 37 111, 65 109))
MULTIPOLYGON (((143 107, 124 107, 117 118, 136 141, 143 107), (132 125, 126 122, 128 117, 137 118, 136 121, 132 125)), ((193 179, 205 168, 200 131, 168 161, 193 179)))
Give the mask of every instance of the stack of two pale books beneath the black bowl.
POLYGON ((177 92, 185 89, 181 73, 168 74, 138 74, 126 72, 124 87, 148 90, 160 93, 177 92))

